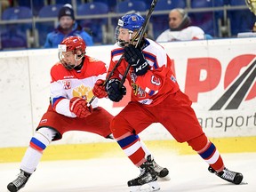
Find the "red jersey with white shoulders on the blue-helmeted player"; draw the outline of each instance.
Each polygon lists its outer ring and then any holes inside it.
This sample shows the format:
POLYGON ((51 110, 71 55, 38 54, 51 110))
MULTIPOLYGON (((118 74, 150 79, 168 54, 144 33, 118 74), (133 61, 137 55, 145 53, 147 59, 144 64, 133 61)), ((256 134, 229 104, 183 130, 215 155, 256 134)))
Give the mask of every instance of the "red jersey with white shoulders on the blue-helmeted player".
MULTIPOLYGON (((145 75, 136 76, 131 67, 127 80, 132 86, 132 101, 153 106, 164 100, 169 93, 177 92, 179 85, 171 70, 172 60, 160 44, 146 39, 146 46, 142 52, 148 61, 150 69, 145 75)), ((111 51, 108 74, 123 53, 124 48, 120 48, 115 44, 114 49, 111 51)), ((123 59, 111 78, 121 79, 127 66, 128 63, 123 59)))

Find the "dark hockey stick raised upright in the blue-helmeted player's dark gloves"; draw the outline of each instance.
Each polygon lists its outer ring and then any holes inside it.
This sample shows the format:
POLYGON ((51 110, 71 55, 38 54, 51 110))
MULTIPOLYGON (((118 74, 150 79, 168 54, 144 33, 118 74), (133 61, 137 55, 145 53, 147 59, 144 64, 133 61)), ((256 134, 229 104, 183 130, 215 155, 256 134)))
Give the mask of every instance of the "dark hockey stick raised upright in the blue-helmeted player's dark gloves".
MULTIPOLYGON (((134 37, 132 38, 132 40, 133 40, 132 43, 133 43, 134 40, 140 35, 140 36, 139 36, 139 39, 138 39, 138 41, 137 41, 137 43, 136 43, 136 45, 135 45, 136 48, 138 47, 138 45, 139 45, 140 42, 141 42, 142 37, 143 37, 143 36, 145 35, 145 33, 146 33, 146 30, 147 30, 147 27, 148 27, 148 22, 149 22, 149 20, 150 20, 150 17, 151 17, 151 15, 152 15, 152 12, 154 12, 154 9, 155 9, 155 7, 156 7, 156 3, 157 3, 157 0, 153 0, 153 1, 152 1, 151 5, 150 5, 150 8, 149 8, 149 10, 148 10, 148 14, 147 14, 147 16, 146 16, 146 20, 144 21, 144 23, 143 23, 143 25, 141 26, 140 30, 137 32, 136 36, 134 36, 134 37)), ((131 44, 132 44, 132 43, 131 43, 131 44)), ((120 88, 120 89, 121 89, 121 87, 123 86, 123 84, 124 84, 124 82, 125 82, 126 76, 127 76, 128 72, 129 72, 130 68, 131 68, 131 65, 128 64, 127 68, 126 68, 125 71, 124 71, 124 76, 123 76, 122 79, 121 79, 121 84, 119 84, 119 88, 120 88)))

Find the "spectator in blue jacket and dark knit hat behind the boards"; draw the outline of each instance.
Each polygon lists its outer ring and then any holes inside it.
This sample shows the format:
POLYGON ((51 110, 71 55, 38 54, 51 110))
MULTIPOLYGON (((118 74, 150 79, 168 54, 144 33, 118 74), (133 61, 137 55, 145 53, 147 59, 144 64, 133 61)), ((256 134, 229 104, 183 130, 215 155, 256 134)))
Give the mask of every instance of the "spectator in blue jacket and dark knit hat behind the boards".
POLYGON ((65 4, 59 12, 59 26, 47 34, 44 48, 57 48, 58 44, 68 36, 80 36, 87 46, 93 45, 92 36, 82 28, 75 20, 74 10, 71 4, 65 4))

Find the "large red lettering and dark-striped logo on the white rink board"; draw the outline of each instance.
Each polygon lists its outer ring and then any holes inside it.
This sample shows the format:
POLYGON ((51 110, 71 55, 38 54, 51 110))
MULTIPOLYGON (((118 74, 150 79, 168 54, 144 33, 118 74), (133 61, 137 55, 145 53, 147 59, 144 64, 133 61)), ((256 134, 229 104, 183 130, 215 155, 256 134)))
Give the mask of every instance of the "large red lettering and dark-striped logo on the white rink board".
MULTIPOLYGON (((175 64, 175 61, 173 63, 175 64)), ((220 110, 224 107, 236 109, 243 100, 252 100, 256 97, 255 65, 255 54, 236 56, 229 61, 226 70, 221 66, 220 60, 215 58, 188 59, 184 92, 188 94, 190 100, 197 102, 199 93, 214 90, 220 85, 220 79, 224 76, 225 92, 220 92, 220 99, 213 104, 210 110, 220 110), (202 70, 206 72, 203 80, 200 79, 202 70)), ((175 72, 174 65, 172 67, 172 71, 175 72)), ((127 82, 124 85, 127 88, 126 96, 120 102, 114 103, 114 107, 124 107, 130 100, 131 87, 127 82)))

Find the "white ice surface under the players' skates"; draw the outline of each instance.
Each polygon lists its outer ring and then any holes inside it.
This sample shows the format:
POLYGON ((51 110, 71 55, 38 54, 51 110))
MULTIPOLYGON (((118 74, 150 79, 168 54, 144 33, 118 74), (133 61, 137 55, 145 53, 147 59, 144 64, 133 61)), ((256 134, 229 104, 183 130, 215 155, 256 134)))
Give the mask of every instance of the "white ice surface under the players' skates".
MULTIPOLYGON (((222 154, 228 169, 244 174, 248 184, 234 185, 207 171, 200 156, 158 152, 155 159, 170 171, 171 180, 159 181, 163 192, 255 192, 256 153, 222 154)), ((0 192, 16 178, 20 163, 0 164, 0 192)), ((90 160, 40 162, 20 192, 129 192, 126 183, 139 176, 125 156, 90 160)))

